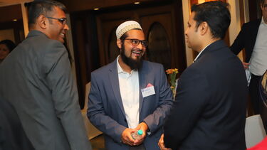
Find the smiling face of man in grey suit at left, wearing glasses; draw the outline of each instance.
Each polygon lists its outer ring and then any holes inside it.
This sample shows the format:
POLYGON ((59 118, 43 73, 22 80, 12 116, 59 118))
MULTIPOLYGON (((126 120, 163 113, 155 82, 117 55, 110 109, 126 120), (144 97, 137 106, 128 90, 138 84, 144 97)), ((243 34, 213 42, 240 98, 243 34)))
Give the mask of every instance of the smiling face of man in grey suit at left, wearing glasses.
MULTIPOLYGON (((51 12, 53 18, 66 18, 64 11, 59 9, 57 6, 54 7, 53 12, 51 12)), ((47 18, 48 26, 46 28, 46 35, 53 39, 64 43, 64 38, 66 37, 66 32, 69 30, 67 24, 63 24, 57 19, 47 18)))

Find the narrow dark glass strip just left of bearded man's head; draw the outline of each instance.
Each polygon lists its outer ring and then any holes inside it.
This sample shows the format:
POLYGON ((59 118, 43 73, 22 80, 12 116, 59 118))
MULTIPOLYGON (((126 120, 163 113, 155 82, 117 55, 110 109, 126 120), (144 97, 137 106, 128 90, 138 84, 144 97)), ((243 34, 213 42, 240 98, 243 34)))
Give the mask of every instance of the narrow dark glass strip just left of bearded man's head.
POLYGON ((108 42, 108 63, 111 63, 120 54, 119 48, 117 48, 117 37, 116 28, 114 28, 110 33, 110 38, 108 42))

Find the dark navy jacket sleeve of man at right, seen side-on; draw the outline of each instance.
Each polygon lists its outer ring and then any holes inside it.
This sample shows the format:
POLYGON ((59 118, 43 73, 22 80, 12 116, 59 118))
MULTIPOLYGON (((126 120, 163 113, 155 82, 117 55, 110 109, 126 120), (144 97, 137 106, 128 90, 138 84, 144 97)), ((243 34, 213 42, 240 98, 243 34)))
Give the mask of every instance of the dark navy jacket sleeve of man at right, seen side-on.
POLYGON ((197 70, 186 70, 179 79, 177 97, 164 124, 164 144, 178 149, 186 139, 209 102, 209 84, 197 70))

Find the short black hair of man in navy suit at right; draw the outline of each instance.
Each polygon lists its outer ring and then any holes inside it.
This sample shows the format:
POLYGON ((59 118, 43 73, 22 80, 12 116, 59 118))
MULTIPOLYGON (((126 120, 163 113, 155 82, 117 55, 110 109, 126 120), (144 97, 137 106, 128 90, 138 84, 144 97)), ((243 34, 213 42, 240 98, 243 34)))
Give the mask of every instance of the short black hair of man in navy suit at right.
POLYGON ((191 11, 195 13, 196 28, 200 23, 206 22, 211 29, 213 38, 223 39, 231 23, 229 4, 222 1, 209 1, 203 4, 193 5, 191 11))

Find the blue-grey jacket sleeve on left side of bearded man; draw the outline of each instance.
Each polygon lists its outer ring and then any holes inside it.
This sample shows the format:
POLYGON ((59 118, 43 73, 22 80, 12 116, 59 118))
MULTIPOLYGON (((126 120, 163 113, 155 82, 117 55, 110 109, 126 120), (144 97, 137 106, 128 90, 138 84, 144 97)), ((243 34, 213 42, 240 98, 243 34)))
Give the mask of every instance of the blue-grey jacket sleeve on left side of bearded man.
POLYGON ((101 132, 112 137, 117 143, 121 141, 122 132, 126 127, 117 123, 114 119, 109 117, 104 110, 103 101, 101 98, 99 84, 97 78, 98 75, 91 74, 91 87, 88 97, 88 111, 87 116, 90 122, 100 129, 101 132))

